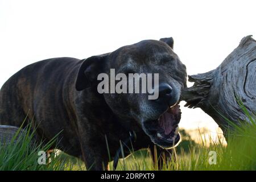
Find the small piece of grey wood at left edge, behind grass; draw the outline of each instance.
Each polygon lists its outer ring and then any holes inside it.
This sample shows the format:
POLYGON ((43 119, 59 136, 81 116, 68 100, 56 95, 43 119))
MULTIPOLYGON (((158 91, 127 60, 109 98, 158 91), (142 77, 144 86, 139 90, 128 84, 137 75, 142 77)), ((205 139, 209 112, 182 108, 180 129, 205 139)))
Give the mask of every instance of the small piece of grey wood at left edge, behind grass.
MULTIPOLYGON (((16 126, 0 125, 0 146, 2 144, 9 144, 18 129, 19 128, 16 126)), ((24 130, 21 130, 19 134, 22 134, 23 132, 24 130)))

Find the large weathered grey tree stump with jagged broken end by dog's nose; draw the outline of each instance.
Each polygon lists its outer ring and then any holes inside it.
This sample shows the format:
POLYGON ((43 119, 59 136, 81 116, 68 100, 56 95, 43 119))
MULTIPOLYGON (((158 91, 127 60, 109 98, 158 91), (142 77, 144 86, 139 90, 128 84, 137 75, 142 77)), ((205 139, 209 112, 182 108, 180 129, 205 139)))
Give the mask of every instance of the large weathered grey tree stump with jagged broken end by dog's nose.
POLYGON ((238 125, 250 122, 239 100, 250 115, 256 113, 256 41, 246 36, 220 66, 207 73, 188 76, 188 81, 195 83, 182 91, 185 106, 200 107, 216 121, 224 135, 229 127, 224 117, 238 125))

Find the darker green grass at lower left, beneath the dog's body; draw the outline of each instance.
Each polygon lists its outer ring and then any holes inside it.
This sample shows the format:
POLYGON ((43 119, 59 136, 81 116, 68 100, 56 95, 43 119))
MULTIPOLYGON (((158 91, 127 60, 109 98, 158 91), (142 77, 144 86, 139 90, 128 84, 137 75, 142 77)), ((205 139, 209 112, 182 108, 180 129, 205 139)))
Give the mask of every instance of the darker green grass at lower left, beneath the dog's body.
MULTIPOLYGON (((3 142, 3 141, 2 141, 3 142)), ((48 156, 46 164, 39 164, 39 151, 48 151, 56 138, 47 143, 35 142, 35 129, 28 125, 20 129, 8 143, 0 144, 0 171, 70 170, 73 164, 68 159, 57 160, 48 156), (51 162, 49 162, 51 161, 51 162)))

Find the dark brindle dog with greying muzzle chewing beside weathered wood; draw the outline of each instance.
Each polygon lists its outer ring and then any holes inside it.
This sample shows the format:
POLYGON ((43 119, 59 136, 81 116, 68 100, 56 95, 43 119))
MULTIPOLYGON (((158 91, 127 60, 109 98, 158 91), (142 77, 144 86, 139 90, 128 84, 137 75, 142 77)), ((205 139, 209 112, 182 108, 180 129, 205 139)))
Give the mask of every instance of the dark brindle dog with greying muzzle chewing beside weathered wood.
MULTIPOLYGON (((87 169, 108 169, 120 144, 136 135, 133 150, 149 147, 158 155, 180 140, 177 127, 185 65, 174 40, 143 40, 84 60, 59 57, 36 62, 15 73, 0 91, 0 124, 36 121, 36 137, 57 134, 58 149, 81 158, 87 169), (158 73, 159 96, 150 93, 98 93, 100 73, 158 73)), ((156 89, 156 87, 154 87, 156 89)), ((123 148, 124 154, 130 150, 123 148)), ((154 154, 154 152, 152 152, 154 154)), ((169 152, 170 153, 170 152, 169 152)))

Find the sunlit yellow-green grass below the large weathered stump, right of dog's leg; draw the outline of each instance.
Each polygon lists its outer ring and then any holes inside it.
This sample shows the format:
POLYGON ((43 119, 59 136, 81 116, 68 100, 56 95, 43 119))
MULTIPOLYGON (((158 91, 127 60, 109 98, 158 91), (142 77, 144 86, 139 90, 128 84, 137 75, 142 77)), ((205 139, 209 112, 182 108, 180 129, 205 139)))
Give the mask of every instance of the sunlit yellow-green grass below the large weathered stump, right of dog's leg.
MULTIPOLYGON (((239 102, 239 101, 238 101, 239 102)), ((232 126, 227 128, 228 144, 224 138, 216 140, 200 133, 201 142, 189 146, 189 152, 181 149, 179 155, 175 153, 170 161, 163 164, 160 170, 256 170, 256 117, 250 115, 246 107, 240 102, 241 109, 249 118, 249 121, 234 123, 226 118, 232 126), (216 154, 216 163, 212 156, 216 154), (177 159, 177 160, 174 160, 177 159)), ((151 160, 151 154, 146 157, 132 154, 129 158, 121 160, 117 170, 159 170, 151 160), (126 161, 123 163, 123 161, 126 161)), ((112 168, 113 169, 113 168, 112 168)))

